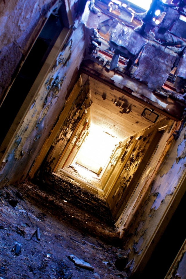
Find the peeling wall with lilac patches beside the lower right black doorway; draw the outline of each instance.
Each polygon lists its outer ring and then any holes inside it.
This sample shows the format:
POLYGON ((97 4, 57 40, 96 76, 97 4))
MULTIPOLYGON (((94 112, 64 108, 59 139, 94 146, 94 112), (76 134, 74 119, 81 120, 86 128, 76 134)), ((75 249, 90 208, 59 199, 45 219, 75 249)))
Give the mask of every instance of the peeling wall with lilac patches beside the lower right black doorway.
POLYGON ((174 212, 173 208, 178 202, 177 193, 182 189, 180 187, 183 187, 182 193, 185 191, 184 184, 182 186, 180 183, 185 175, 186 130, 184 126, 180 137, 175 141, 172 136, 175 128, 175 124, 172 128, 170 124, 167 127, 150 164, 116 222, 117 230, 125 239, 125 247, 130 249, 132 273, 143 269, 140 261, 148 260, 160 232, 164 231, 166 222, 171 218, 171 210, 166 215, 169 206, 174 212))

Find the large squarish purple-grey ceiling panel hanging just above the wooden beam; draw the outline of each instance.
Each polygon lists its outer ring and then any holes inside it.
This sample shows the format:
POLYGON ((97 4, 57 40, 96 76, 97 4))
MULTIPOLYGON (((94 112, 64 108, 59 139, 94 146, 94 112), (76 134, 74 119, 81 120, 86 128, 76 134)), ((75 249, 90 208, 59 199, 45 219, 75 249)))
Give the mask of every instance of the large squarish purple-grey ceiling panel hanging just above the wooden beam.
POLYGON ((148 42, 140 56, 134 78, 147 82, 151 90, 159 89, 167 80, 175 60, 174 52, 148 42))

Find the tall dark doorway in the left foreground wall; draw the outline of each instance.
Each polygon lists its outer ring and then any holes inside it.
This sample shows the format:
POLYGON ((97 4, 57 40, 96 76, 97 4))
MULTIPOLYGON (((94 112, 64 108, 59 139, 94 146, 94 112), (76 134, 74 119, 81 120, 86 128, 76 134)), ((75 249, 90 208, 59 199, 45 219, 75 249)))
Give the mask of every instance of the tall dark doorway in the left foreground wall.
POLYGON ((8 133, 62 28, 59 17, 51 14, 15 78, 0 108, 0 118, 3 119, 1 121, 0 144, 8 133), (7 111, 10 113, 8 117, 4 117, 7 111))

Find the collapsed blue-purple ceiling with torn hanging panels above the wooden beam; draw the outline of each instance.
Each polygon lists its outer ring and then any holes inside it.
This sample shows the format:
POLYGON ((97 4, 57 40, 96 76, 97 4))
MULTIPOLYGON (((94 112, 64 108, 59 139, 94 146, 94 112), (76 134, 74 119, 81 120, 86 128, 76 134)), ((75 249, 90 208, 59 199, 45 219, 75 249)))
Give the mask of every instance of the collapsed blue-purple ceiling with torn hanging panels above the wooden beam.
MULTIPOLYGON (((182 34, 186 27, 184 8, 179 7, 178 10, 176 6, 156 1, 148 12, 142 13, 142 10, 135 5, 131 8, 129 4, 122 5, 114 1, 96 1, 94 4, 101 13, 91 12, 90 5, 87 4, 81 19, 89 30, 87 35, 90 37, 89 54, 86 59, 91 59, 108 70, 123 73, 124 80, 132 78, 133 83, 135 80, 141 81, 159 99, 157 103, 160 108, 162 98, 167 96, 182 102, 184 109, 186 99, 185 54, 183 54, 186 38, 182 34), (129 14, 132 15, 130 23, 129 14)), ((136 94, 144 95, 138 90, 136 94)), ((154 96, 151 97, 154 100, 154 96)), ((164 108, 163 104, 162 109, 164 108)), ((167 110, 170 111, 168 108, 167 110)), ((181 115, 182 112, 181 109, 181 115)), ((180 118, 178 114, 177 117, 180 118)))

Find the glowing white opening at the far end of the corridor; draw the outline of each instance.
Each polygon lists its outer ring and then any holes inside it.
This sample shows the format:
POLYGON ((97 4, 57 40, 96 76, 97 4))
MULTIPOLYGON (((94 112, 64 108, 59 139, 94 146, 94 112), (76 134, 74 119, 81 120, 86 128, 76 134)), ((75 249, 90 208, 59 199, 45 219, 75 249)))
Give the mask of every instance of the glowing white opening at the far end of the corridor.
POLYGON ((107 168, 112 154, 117 150, 121 139, 106 132, 103 127, 91 122, 78 151, 59 170, 85 186, 104 188, 102 174, 107 168))

